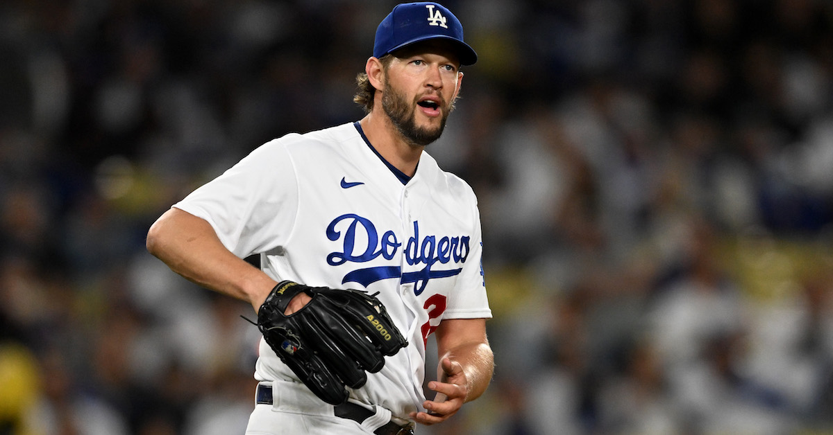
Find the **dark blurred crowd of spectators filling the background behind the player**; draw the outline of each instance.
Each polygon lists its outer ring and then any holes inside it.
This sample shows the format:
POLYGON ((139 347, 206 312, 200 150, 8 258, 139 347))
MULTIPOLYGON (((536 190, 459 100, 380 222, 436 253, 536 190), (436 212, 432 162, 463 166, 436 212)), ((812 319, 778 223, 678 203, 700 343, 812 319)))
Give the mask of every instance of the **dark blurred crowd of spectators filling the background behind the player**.
MULTIPOLYGON (((393 4, 0 3, 0 434, 242 433, 252 309, 144 237, 359 119, 393 4)), ((419 433, 833 433, 833 3, 444 4, 480 60, 428 152, 480 200, 496 373, 419 433)))

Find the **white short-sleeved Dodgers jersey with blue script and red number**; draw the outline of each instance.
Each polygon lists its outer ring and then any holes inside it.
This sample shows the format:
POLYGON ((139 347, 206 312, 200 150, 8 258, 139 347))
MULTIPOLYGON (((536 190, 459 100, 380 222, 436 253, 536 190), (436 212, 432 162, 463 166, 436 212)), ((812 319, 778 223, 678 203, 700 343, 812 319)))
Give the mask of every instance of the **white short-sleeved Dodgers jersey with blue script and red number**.
MULTIPOLYGON (((442 319, 491 318, 471 187, 422 153, 410 179, 358 122, 267 142, 175 205, 273 279, 367 289, 409 345, 351 391, 407 418, 422 410, 426 339, 442 319)), ((255 377, 295 379, 261 340, 255 377)))

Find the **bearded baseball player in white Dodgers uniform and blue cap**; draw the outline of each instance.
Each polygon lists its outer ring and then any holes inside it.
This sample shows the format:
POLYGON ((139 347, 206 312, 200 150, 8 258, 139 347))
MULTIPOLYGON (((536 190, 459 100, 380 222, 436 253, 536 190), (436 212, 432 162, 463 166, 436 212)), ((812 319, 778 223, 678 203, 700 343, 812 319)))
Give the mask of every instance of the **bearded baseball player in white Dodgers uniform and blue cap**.
POLYGON ((246 433, 413 433, 485 391, 491 311, 476 197, 425 151, 460 91, 460 66, 475 62, 446 7, 397 5, 358 77, 367 116, 267 142, 152 225, 153 255, 257 311, 264 339, 246 433), (253 254, 261 269, 242 260, 253 254), (375 311, 351 318, 357 305, 338 299, 348 293, 375 311), (362 347, 344 338, 362 319, 373 321, 361 337, 395 343, 370 363, 343 350, 362 347), (431 334, 439 364, 426 399, 431 334))

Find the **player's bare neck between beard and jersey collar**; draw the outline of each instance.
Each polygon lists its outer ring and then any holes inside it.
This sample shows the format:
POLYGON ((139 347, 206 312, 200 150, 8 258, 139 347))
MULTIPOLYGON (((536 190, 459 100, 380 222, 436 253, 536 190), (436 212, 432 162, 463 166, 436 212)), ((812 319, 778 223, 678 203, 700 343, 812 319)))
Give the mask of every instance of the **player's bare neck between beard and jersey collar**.
POLYGON ((370 141, 380 156, 405 175, 413 176, 416 173, 416 164, 419 163, 425 146, 412 146, 407 143, 390 118, 376 111, 369 113, 359 122, 367 141, 370 141))

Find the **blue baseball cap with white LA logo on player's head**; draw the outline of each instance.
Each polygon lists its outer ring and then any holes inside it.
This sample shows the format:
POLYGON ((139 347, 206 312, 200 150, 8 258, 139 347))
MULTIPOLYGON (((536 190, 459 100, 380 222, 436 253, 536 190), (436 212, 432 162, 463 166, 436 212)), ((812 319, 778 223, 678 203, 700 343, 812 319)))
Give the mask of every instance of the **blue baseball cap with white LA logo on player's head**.
POLYGON ((463 42, 460 20, 448 8, 435 2, 402 3, 379 23, 373 57, 382 57, 400 48, 430 39, 451 42, 461 65, 477 62, 477 53, 463 42))

